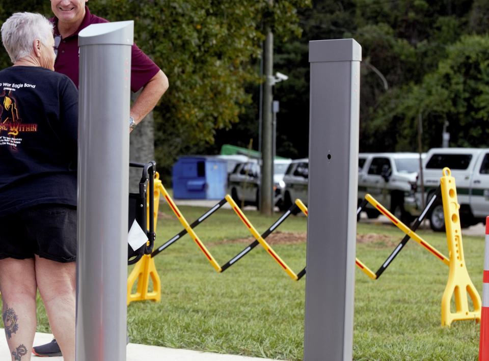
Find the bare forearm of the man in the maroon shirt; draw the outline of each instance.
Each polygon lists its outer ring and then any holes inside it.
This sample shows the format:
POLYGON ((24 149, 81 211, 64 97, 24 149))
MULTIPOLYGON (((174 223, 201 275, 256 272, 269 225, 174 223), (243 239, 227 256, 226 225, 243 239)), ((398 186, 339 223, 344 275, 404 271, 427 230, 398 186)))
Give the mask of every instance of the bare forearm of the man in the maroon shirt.
POLYGON ((168 78, 164 72, 158 71, 146 85, 143 87, 141 94, 131 106, 130 116, 134 123, 138 124, 146 115, 153 110, 159 98, 168 89, 168 78))

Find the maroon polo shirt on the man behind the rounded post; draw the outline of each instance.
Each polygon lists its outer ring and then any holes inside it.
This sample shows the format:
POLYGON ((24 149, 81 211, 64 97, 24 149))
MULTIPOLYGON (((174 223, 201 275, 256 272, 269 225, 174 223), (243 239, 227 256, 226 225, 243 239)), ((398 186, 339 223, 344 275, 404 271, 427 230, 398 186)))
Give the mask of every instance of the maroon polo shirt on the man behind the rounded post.
MULTIPOLYGON (((55 16, 50 18, 49 21, 55 26, 55 36, 60 35, 58 31, 58 18, 55 16)), ((83 18, 80 27, 78 27, 78 30, 64 38, 58 47, 55 70, 67 75, 73 80, 76 87, 78 87, 79 72, 78 33, 90 24, 98 24, 101 22, 108 22, 108 20, 90 14, 90 10, 88 9, 88 6, 86 6, 85 17, 83 18)), ((131 90, 137 92, 148 83, 148 81, 159 71, 159 68, 136 44, 132 44, 131 52, 131 90)))

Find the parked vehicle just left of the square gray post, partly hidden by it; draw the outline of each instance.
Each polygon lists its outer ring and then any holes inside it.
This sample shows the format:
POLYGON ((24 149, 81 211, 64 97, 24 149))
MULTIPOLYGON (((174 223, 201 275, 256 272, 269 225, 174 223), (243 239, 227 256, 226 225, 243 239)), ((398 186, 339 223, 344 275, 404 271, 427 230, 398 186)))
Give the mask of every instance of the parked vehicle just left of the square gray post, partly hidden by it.
POLYGON ((296 199, 307 205, 307 186, 309 183, 309 159, 295 159, 290 162, 285 172, 285 183, 282 192, 282 210, 290 208, 296 199))

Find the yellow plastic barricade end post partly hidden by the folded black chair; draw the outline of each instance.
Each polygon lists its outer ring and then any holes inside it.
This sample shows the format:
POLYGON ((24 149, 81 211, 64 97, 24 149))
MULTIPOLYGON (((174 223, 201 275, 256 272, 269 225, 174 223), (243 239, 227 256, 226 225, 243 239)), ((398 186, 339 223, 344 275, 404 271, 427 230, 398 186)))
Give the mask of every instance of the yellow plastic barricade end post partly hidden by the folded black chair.
MULTIPOLYGON (((156 173, 154 179, 154 213, 152 215, 154 219, 154 229, 156 231, 156 223, 158 221, 158 206, 159 206, 159 195, 160 195, 160 184, 159 175, 156 173)), ((148 187, 148 197, 146 204, 146 219, 147 227, 149 228, 149 187, 148 187)), ((143 300, 161 300, 161 282, 159 279, 158 272, 156 271, 156 266, 154 265, 154 259, 151 255, 144 255, 141 260, 135 264, 132 272, 127 277, 127 304, 132 301, 143 301, 143 300), (149 292, 149 279, 153 281, 153 291, 149 292), (135 293, 131 293, 134 283, 138 283, 137 290, 135 293)))

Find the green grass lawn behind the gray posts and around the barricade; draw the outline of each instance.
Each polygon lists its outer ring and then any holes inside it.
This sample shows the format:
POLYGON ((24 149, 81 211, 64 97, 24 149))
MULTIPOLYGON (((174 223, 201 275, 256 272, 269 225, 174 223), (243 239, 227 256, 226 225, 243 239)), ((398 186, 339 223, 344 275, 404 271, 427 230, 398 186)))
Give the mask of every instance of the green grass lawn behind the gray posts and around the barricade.
MULTIPOLYGON (((205 211, 183 206, 180 210, 189 223, 205 211)), ((156 246, 182 229, 166 204, 160 205, 160 211, 164 215, 158 220, 156 246)), ((245 213, 260 233, 279 217, 245 213)), ((306 218, 291 216, 279 231, 305 233, 306 218)), ((196 233, 221 265, 247 245, 232 240, 249 236, 235 213, 225 209, 197 227, 196 233)), ((374 240, 357 245, 357 257, 374 272, 403 236, 393 226, 362 223, 358 233, 382 235, 379 240, 369 237, 374 240)), ((444 234, 419 234, 448 256, 444 234)), ((304 242, 273 247, 295 272, 305 266, 304 242)), ((483 237, 464 237, 464 248, 469 273, 481 294, 483 237)), ((131 342, 302 359, 305 278, 292 281, 261 246, 219 274, 186 235, 159 254, 155 263, 162 285, 161 302, 130 304, 131 342)), ((354 359, 476 359, 478 324, 457 321, 450 328, 440 325, 447 277, 448 267, 414 241, 377 281, 357 268, 354 359)), ((49 331, 41 303, 38 321, 39 331, 49 331)))

